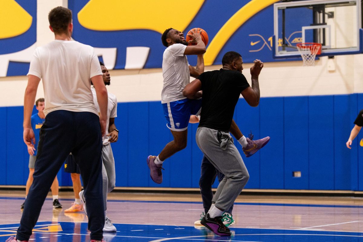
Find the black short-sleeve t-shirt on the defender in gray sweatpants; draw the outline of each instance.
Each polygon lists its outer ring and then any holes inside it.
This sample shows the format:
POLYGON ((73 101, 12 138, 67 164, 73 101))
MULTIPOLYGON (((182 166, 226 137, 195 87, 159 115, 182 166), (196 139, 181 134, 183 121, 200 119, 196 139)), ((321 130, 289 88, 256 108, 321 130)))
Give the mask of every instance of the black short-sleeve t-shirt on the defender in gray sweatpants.
POLYGON ((215 70, 202 73, 203 98, 199 127, 229 131, 241 91, 249 87, 245 76, 232 70, 215 70))

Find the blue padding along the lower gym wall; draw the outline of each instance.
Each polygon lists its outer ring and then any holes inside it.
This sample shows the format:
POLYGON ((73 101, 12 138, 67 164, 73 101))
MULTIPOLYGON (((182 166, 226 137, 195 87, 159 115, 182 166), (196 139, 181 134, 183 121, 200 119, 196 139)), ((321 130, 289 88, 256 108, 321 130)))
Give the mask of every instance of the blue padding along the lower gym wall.
MULTIPOLYGON (((254 139, 270 136, 270 142, 246 158, 236 147, 249 171, 246 188, 363 190, 363 133, 346 141, 363 103, 363 94, 261 98, 258 107, 244 99, 237 103, 234 120, 242 133, 254 139), (301 177, 293 177, 300 171, 301 177)), ((148 155, 158 155, 173 140, 166 127, 162 105, 157 102, 118 103, 115 124, 119 139, 112 144, 116 186, 198 188, 203 154, 195 142, 198 124, 188 126, 187 148, 164 163, 163 183, 150 179, 148 155)), ((36 110, 33 110, 35 113, 36 110)), ((25 185, 29 155, 23 142, 23 107, 0 108, 1 185, 25 185)), ((61 186, 72 185, 70 175, 58 173, 61 186)), ((213 184, 217 187, 218 182, 213 184)))

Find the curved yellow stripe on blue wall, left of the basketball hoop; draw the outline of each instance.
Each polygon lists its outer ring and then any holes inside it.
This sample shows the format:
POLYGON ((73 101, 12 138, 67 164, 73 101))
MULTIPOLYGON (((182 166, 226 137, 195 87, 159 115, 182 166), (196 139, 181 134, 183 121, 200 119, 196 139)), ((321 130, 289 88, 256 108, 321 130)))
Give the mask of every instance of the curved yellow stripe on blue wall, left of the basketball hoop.
MULTIPOLYGON (((212 65, 217 55, 225 45, 225 43, 231 38, 232 34, 236 32, 242 24, 253 17, 256 13, 262 9, 274 4, 280 0, 251 0, 244 5, 222 26, 216 36, 211 41, 207 48, 207 52, 204 54, 205 65, 212 65)), ((206 30, 207 31, 207 30, 206 30)), ((208 32, 208 31, 207 31, 208 32)))

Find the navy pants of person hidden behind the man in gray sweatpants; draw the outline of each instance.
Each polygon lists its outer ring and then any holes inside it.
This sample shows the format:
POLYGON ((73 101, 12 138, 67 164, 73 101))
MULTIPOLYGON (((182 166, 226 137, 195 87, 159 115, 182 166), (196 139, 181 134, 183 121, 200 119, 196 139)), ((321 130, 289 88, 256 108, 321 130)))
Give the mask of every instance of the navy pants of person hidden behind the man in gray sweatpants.
MULTIPOLYGON (((209 208, 211 208, 212 205, 212 198, 213 198, 212 185, 216 180, 216 177, 218 177, 218 181, 221 182, 224 175, 223 173, 218 171, 205 156, 203 156, 200 168, 201 169, 200 169, 199 188, 200 188, 200 194, 202 195, 204 213, 207 214, 209 208)), ((232 210, 233 210, 233 204, 231 208, 229 208, 224 212, 232 214, 232 210)))

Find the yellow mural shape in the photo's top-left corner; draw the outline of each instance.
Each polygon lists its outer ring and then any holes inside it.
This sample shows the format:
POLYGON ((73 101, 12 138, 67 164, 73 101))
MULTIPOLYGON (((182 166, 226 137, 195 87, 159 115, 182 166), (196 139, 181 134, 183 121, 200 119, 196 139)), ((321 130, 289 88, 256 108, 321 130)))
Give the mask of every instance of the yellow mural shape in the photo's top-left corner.
POLYGON ((15 0, 2 0, 0 8, 0 39, 11 38, 28 31, 33 17, 15 0))

